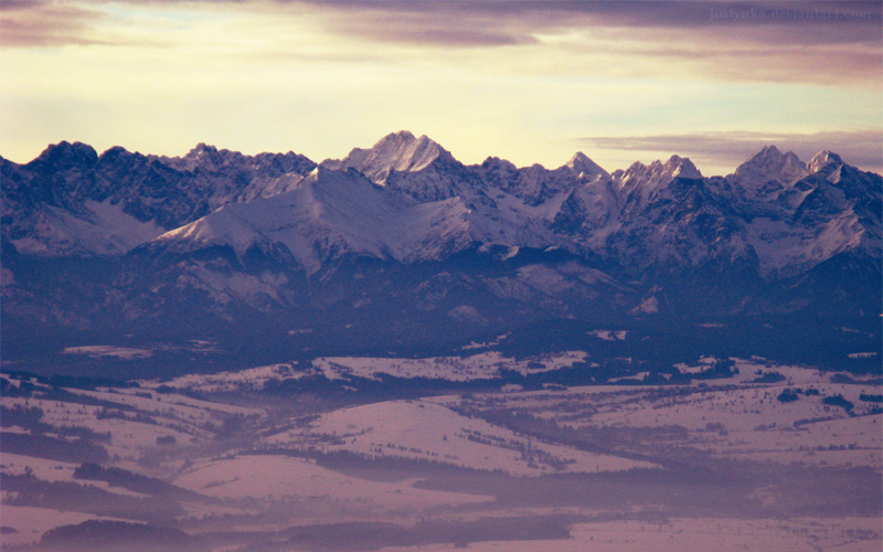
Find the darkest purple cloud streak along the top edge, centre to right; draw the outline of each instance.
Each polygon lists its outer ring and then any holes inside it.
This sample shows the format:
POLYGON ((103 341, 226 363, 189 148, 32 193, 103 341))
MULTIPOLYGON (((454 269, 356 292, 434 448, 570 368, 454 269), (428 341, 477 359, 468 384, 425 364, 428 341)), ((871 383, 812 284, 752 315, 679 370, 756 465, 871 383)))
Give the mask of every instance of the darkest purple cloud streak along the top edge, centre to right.
MULTIPOLYGON (((880 38, 879 2, 731 1, 283 1, 333 14, 330 29, 374 40, 493 45, 574 29, 713 30, 769 43, 857 43, 880 38), (409 29, 408 32, 403 32, 409 29), (422 33, 423 29, 428 30, 422 33), (436 31, 451 32, 450 40, 436 31), (391 31, 391 32, 384 32, 391 31), (504 41, 500 38, 506 36, 504 41)), ((677 36, 670 36, 677 39, 677 36)))

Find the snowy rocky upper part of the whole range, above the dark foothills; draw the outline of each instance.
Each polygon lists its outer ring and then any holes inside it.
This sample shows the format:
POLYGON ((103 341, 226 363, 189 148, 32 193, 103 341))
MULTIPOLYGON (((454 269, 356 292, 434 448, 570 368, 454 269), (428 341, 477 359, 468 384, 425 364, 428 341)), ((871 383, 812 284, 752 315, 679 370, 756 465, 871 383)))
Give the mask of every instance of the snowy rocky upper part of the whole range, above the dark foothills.
POLYGON ((561 247, 640 269, 756 265, 773 277, 845 251, 873 254, 881 235, 877 176, 830 151, 804 163, 774 146, 723 179, 679 156, 611 174, 582 152, 554 170, 498 158, 467 167, 408 131, 312 174, 315 163, 291 152, 204 144, 158 158, 62 142, 0 167, 3 237, 29 255, 124 254, 166 231, 155 246, 243 254, 281 244, 310 270, 347 253, 414 261, 478 243, 561 247))

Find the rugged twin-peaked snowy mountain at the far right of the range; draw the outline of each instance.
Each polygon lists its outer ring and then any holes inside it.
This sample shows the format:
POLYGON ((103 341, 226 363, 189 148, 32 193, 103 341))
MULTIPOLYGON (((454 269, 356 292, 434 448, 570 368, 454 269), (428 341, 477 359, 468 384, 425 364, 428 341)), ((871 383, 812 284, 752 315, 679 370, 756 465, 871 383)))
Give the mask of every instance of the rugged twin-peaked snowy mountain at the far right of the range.
POLYGON ((880 177, 837 153, 821 151, 802 163, 766 147, 723 188, 765 277, 799 274, 849 251, 879 256, 880 177))

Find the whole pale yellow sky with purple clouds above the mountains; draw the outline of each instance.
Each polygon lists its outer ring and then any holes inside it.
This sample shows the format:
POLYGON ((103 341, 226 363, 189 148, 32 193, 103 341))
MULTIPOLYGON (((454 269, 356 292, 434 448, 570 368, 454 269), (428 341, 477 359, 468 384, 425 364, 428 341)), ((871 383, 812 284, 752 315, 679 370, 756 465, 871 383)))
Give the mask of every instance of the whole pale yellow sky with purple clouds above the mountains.
POLYGON ((344 157, 397 130, 466 163, 605 169, 765 145, 883 172, 883 2, 0 2, 0 156, 199 142, 344 157))

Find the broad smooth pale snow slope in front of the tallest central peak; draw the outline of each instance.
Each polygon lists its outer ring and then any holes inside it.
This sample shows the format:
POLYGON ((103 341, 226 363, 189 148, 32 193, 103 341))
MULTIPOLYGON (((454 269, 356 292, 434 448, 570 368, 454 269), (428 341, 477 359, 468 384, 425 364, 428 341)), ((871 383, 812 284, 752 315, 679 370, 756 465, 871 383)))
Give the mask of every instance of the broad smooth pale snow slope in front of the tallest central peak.
POLYGON ((350 169, 318 168, 294 190, 225 205, 159 236, 151 246, 175 252, 228 245, 281 245, 309 272, 342 255, 400 262, 438 258, 469 245, 468 210, 456 200, 432 203, 395 194, 350 169))

